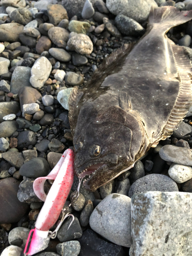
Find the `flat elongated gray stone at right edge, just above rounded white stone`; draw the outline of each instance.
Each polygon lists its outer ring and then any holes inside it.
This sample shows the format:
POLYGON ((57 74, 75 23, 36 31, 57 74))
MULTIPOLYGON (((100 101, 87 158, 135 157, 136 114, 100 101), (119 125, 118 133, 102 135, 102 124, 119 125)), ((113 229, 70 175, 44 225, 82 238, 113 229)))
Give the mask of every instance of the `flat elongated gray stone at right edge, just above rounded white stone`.
POLYGON ((192 166, 192 152, 188 148, 165 145, 159 151, 159 155, 167 162, 192 166))

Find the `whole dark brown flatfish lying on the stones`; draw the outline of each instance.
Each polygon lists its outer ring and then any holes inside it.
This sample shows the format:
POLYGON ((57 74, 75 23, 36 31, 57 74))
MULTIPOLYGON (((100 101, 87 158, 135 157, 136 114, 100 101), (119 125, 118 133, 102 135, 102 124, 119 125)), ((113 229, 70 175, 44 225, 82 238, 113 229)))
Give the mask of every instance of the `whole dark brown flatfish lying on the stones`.
MULTIPOLYGON (((74 171, 90 191, 173 134, 191 106, 191 62, 166 33, 192 11, 152 8, 145 34, 106 57, 69 96, 74 171)), ((132 171, 132 170, 130 170, 132 171)))

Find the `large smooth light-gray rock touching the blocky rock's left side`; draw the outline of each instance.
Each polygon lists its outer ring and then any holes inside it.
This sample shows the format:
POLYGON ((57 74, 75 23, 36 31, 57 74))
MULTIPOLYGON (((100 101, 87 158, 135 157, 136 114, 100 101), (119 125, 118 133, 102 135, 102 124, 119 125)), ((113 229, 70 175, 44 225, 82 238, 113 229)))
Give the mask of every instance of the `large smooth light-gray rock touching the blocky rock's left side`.
POLYGON ((130 247, 131 198, 115 193, 105 197, 94 209, 90 226, 105 239, 130 247))

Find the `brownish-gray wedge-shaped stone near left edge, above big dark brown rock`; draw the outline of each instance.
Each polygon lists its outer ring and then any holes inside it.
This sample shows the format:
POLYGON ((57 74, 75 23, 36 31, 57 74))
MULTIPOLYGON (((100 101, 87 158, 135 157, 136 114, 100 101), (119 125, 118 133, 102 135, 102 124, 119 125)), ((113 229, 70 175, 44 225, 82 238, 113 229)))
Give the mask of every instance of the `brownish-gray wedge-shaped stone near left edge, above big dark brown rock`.
POLYGON ((2 154, 2 158, 16 168, 20 168, 24 164, 22 153, 8 151, 2 154))

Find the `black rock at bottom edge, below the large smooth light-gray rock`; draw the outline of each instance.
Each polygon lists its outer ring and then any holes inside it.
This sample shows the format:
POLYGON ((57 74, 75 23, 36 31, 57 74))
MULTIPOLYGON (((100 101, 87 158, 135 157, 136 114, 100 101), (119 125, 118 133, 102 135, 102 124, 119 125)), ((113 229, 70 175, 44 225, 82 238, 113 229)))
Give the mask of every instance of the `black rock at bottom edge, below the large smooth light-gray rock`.
POLYGON ((78 241, 81 245, 80 255, 83 256, 122 256, 124 254, 120 245, 112 244, 98 238, 97 234, 91 229, 84 231, 78 241))

